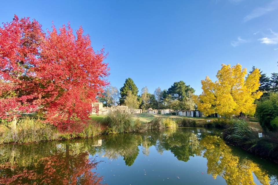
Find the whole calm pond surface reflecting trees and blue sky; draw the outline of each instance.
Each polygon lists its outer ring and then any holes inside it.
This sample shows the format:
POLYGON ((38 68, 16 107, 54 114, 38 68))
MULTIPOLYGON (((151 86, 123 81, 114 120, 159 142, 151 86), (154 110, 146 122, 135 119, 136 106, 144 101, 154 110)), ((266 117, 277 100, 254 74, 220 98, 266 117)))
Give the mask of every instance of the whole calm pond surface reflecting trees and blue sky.
POLYGON ((278 184, 278 165, 178 128, 0 146, 0 184, 278 184))

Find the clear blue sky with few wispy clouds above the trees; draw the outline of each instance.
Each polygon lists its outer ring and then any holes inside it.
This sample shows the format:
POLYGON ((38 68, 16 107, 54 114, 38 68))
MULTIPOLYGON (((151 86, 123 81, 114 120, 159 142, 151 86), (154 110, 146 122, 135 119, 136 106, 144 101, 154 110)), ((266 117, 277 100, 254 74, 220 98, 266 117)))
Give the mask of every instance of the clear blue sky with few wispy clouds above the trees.
POLYGON ((94 50, 109 52, 111 85, 131 77, 139 93, 183 80, 200 94, 222 63, 278 72, 278 0, 3 1, 1 22, 14 14, 44 30, 81 25, 94 50))

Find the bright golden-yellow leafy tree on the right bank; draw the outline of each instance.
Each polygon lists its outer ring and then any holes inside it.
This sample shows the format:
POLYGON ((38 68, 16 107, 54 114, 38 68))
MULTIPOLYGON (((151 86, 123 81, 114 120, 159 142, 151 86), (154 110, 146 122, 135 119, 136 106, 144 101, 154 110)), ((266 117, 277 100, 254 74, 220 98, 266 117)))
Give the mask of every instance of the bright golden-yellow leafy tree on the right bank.
POLYGON ((216 82, 212 82, 208 76, 201 81, 203 92, 198 97, 198 110, 205 115, 253 115, 256 110, 254 101, 262 95, 258 91, 261 75, 257 68, 245 78, 246 74, 246 68, 242 69, 240 64, 232 67, 222 64, 216 82))

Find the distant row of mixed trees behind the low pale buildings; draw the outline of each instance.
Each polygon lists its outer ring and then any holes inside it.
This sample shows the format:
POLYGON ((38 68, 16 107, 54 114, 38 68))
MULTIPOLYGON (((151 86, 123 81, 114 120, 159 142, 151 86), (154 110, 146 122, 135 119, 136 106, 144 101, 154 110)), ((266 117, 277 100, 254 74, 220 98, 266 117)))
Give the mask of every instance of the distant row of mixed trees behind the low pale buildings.
POLYGON ((195 110, 195 90, 183 81, 174 82, 170 88, 164 90, 158 87, 153 94, 149 92, 147 86, 142 88, 140 95, 138 92, 134 81, 127 78, 120 91, 113 86, 107 87, 99 97, 99 101, 103 102, 104 106, 126 105, 143 110, 148 108, 195 110))

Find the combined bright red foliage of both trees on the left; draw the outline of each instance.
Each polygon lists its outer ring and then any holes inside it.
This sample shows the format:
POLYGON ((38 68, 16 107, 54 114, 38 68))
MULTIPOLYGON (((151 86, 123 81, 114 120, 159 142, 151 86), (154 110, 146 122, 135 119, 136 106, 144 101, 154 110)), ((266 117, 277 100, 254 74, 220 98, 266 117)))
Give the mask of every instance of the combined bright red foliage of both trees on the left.
POLYGON ((94 52, 81 27, 76 36, 70 25, 47 33, 17 16, 0 28, 0 118, 40 107, 46 122, 69 129, 88 119, 108 85, 106 55, 94 52))

